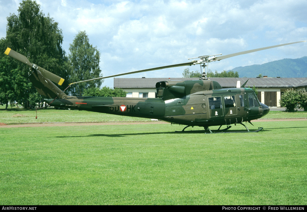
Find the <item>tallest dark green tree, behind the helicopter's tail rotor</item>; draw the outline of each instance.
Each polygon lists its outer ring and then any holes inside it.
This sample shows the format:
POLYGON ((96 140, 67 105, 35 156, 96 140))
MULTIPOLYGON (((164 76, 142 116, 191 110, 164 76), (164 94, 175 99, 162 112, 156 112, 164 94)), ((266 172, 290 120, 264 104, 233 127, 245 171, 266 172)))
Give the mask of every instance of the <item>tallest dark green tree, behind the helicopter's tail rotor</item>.
MULTIPOLYGON (((7 18, 6 38, 3 39, 4 49, 10 47, 28 57, 32 63, 62 78, 67 78, 67 58, 61 47, 63 35, 58 23, 54 22, 49 14, 45 16, 36 1, 22 1, 17 11, 18 15, 10 14, 7 18)), ((36 93, 27 79, 30 74, 29 67, 9 60, 10 70, 7 72, 14 70, 14 73, 10 73, 14 77, 10 78, 11 82, 6 81, 6 83, 14 85, 14 88, 8 86, 4 93, 10 93, 12 90, 9 89, 13 89, 14 95, 11 95, 10 100, 24 102, 24 107, 27 107, 29 95, 36 93)), ((65 85, 67 86, 66 82, 63 86, 65 85)))

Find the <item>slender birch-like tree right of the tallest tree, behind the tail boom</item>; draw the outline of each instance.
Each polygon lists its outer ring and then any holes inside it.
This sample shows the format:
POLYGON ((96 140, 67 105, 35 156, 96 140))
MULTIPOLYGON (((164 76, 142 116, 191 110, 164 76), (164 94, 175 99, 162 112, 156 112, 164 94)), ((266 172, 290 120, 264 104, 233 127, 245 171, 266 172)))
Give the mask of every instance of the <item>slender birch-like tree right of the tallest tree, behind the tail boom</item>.
MULTIPOLYGON (((100 53, 97 47, 89 43, 89 38, 85 31, 80 31, 72 44, 69 45, 70 54, 68 56, 72 70, 70 71, 70 81, 80 82, 88 79, 102 77, 100 75, 100 53)), ((100 87, 102 81, 90 81, 75 84, 69 87, 71 95, 81 96, 88 88, 100 87)))

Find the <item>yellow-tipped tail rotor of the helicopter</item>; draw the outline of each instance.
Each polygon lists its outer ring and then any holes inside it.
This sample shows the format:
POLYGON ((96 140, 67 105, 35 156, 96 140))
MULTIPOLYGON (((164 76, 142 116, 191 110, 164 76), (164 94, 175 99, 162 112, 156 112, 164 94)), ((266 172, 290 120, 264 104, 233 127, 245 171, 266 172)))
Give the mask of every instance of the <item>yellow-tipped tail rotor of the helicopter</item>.
POLYGON ((12 50, 10 48, 7 48, 6 51, 4 52, 4 54, 6 54, 6 55, 10 56, 11 58, 14 58, 14 59, 22 62, 22 63, 24 63, 24 64, 26 64, 28 66, 30 66, 31 68, 35 68, 35 69, 39 70, 41 72, 41 74, 45 78, 50 79, 52 82, 55 82, 55 83, 57 83, 59 85, 62 85, 63 82, 64 82, 63 78, 61 78, 59 76, 56 76, 55 74, 52 74, 50 71, 47 71, 47 70, 43 69, 42 67, 37 66, 37 65, 31 63, 26 56, 24 56, 24 55, 22 55, 22 54, 20 54, 20 53, 18 53, 16 51, 14 51, 14 50, 12 50))

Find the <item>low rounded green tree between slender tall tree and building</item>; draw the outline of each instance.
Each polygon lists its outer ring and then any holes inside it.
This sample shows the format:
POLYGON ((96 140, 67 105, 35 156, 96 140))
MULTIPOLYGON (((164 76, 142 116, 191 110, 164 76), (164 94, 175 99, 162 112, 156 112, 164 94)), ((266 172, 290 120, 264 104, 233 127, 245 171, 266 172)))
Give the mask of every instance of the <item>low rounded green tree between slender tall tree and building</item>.
POLYGON ((126 97, 127 92, 121 88, 109 88, 104 86, 100 88, 89 88, 84 91, 83 96, 103 96, 103 97, 126 97))

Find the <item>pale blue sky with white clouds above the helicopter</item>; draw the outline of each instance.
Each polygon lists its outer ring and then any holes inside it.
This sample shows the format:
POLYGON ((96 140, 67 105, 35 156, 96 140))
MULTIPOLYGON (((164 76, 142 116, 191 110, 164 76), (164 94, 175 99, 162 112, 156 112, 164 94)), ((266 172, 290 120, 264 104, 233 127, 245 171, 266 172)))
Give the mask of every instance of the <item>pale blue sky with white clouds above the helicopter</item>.
MULTIPOLYGON (((0 0, 0 37, 6 36, 6 17, 18 14, 20 2, 0 0)), ((86 31, 89 42, 100 51, 103 76, 307 40, 307 0, 36 2, 45 15, 59 23, 66 54, 76 34, 86 31)), ((306 43, 227 58, 208 67, 221 72, 301 58, 307 56, 306 43)), ((184 66, 122 77, 177 78, 185 68, 200 70, 199 66, 184 66)), ((113 78, 106 79, 103 86, 113 87, 113 78)))

